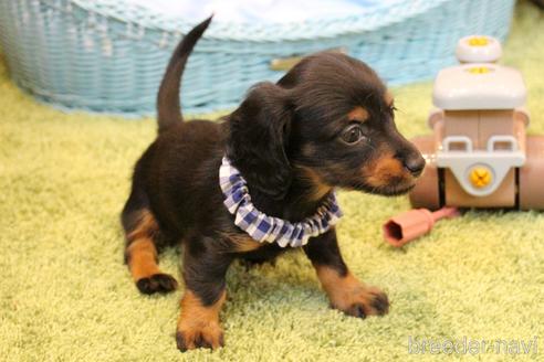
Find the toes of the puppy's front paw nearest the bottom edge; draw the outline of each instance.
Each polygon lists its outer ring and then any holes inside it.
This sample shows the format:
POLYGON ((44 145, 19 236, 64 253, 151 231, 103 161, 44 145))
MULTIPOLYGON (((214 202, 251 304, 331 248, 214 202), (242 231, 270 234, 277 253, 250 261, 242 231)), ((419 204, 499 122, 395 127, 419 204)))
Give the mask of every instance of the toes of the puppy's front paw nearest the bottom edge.
POLYGON ((181 352, 197 348, 215 350, 224 345, 223 331, 215 322, 180 327, 176 333, 176 343, 181 352))

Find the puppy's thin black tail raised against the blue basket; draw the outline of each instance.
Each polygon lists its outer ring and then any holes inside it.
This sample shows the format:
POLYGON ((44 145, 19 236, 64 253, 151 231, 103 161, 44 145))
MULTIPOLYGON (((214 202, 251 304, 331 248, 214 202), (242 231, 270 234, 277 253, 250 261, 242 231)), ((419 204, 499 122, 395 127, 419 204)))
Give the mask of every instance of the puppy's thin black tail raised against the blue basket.
POLYGON ((210 18, 202 21, 197 26, 184 36, 178 46, 174 51, 170 57, 170 62, 166 67, 163 82, 160 83, 158 97, 157 97, 157 118, 158 118, 158 131, 159 134, 177 124, 182 121, 181 107, 179 105, 179 85, 181 83, 181 75, 187 63, 187 58, 191 53, 195 44, 198 42, 202 33, 206 31, 211 22, 210 18))

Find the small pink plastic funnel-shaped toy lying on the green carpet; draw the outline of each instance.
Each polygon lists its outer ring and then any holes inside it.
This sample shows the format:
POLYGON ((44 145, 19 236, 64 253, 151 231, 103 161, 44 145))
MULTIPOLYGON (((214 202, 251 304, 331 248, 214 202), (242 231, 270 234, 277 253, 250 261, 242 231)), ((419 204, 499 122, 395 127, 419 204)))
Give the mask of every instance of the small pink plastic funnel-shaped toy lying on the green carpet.
POLYGON ((384 237, 393 246, 400 247, 430 232, 440 219, 452 219, 459 215, 456 207, 442 207, 435 212, 427 209, 410 210, 385 223, 384 237))

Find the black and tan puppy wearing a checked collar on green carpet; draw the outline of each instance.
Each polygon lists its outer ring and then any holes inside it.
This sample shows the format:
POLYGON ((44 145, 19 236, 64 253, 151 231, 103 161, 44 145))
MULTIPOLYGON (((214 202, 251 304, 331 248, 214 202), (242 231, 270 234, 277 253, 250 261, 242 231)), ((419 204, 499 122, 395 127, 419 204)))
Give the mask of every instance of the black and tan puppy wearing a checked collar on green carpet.
POLYGON ((335 188, 397 195, 423 169, 421 155, 395 127, 391 95, 366 64, 323 52, 275 84, 253 86, 221 123, 184 123, 180 77, 210 21, 185 36, 168 64, 158 93, 158 137, 136 163, 123 210, 125 260, 137 288, 150 295, 177 287, 160 272, 158 251, 181 243, 177 347, 216 349, 223 345, 219 313, 229 265, 273 260, 292 245, 302 246, 334 308, 359 318, 386 313, 387 296, 349 272, 332 224, 339 214, 335 188), (223 167, 238 175, 220 178, 223 167), (291 227, 291 234, 283 233, 282 242, 274 242, 275 234, 259 239, 255 228, 238 226, 249 216, 238 214, 240 203, 227 205, 237 194, 229 195, 223 181, 230 191, 236 185, 228 183, 238 182, 234 191, 245 192, 251 210, 282 225, 274 233, 291 227), (305 232, 293 231, 304 222, 305 232))

